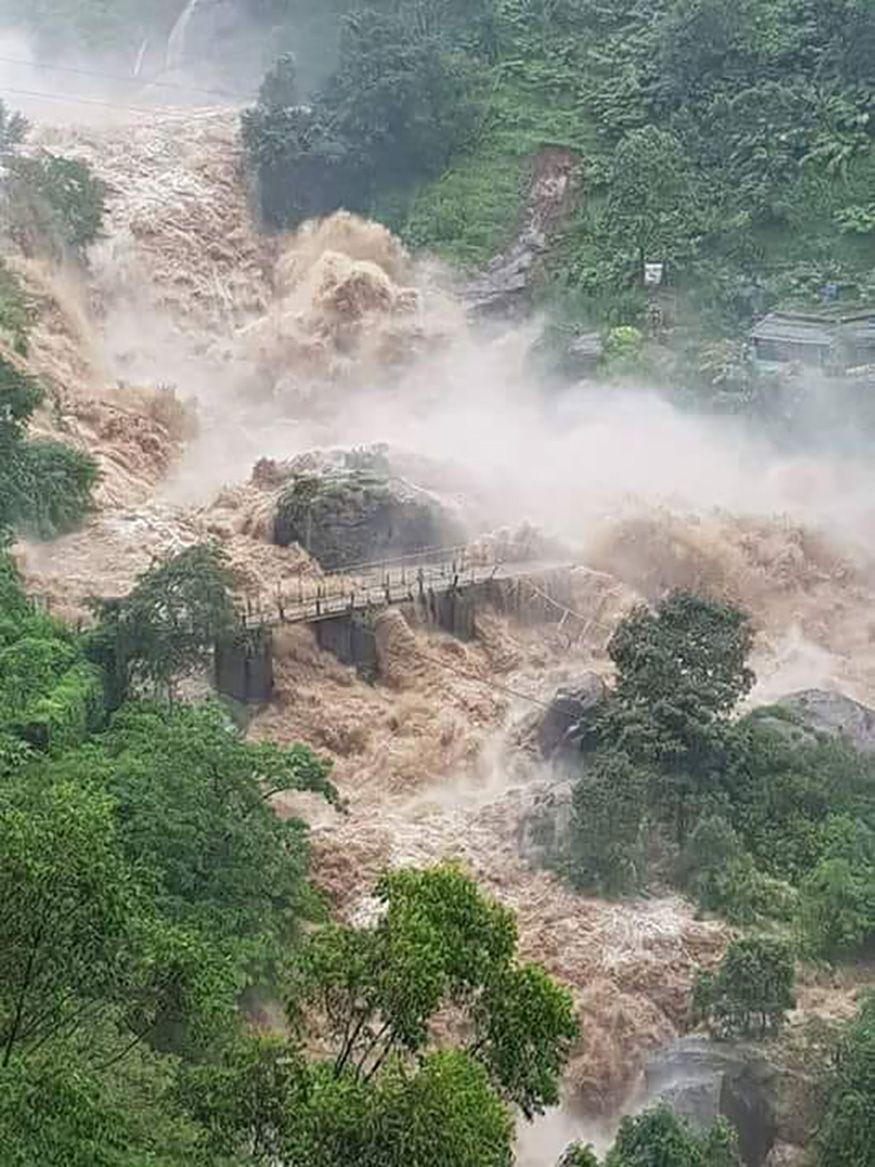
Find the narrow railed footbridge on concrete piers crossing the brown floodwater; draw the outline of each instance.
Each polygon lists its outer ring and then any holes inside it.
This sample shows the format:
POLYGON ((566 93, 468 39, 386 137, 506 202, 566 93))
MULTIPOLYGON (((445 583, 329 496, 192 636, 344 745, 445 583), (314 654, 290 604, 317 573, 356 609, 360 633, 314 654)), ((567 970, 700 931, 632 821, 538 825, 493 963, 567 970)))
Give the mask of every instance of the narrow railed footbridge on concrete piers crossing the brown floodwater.
POLYGON ((454 546, 301 576, 273 593, 242 598, 238 633, 216 649, 216 684, 237 700, 267 699, 273 687, 273 634, 290 624, 313 626, 321 648, 376 676, 374 622, 390 608, 405 612, 414 623, 471 640, 477 608, 489 606, 530 623, 558 624, 573 642, 592 623, 572 607, 575 566, 526 559, 512 547, 502 557, 492 548, 485 554, 454 546))

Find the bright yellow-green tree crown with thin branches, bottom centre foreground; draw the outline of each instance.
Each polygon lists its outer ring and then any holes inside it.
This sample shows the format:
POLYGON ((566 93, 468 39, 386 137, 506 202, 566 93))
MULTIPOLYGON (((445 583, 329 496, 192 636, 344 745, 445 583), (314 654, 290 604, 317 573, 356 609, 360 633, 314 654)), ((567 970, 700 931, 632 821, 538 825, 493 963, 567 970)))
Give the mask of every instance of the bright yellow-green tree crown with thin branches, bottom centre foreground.
POLYGON ((514 959, 513 916, 460 869, 394 872, 376 895, 372 930, 329 928, 301 949, 290 1013, 318 1019, 336 1043, 334 1068, 370 1081, 418 1054, 430 1019, 455 1002, 468 1049, 526 1114, 558 1102, 559 1071, 576 1036, 570 997, 537 965, 514 959))

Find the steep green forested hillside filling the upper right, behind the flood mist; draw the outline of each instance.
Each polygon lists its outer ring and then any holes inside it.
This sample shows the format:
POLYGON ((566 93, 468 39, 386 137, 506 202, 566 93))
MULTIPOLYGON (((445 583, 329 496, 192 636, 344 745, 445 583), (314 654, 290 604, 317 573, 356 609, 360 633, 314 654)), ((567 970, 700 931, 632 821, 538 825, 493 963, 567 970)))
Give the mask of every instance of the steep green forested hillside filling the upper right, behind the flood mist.
POLYGON ((643 327, 664 261, 684 375, 722 384, 713 341, 770 305, 875 298, 874 44, 864 0, 398 0, 342 18, 306 109, 262 92, 244 126, 268 223, 343 204, 468 270, 512 238, 538 151, 569 149, 540 300, 643 327))

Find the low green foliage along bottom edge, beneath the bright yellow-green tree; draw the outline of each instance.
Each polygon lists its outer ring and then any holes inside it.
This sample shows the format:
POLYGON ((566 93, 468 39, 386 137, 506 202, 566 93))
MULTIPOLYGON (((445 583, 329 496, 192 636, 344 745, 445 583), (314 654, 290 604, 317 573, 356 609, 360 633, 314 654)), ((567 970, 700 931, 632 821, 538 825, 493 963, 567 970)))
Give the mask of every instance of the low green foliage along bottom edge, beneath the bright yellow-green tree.
POLYGON ((513 1123, 487 1070, 461 1050, 371 1079, 249 1041, 188 1075, 184 1098, 215 1154, 288 1167, 510 1167, 513 1123))

